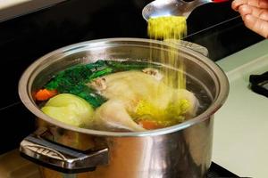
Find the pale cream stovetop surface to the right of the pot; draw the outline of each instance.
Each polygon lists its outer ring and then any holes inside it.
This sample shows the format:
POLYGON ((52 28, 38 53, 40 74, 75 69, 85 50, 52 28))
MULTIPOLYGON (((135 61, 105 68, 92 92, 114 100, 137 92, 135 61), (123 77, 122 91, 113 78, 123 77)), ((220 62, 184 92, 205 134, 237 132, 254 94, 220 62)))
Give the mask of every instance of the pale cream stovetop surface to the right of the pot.
POLYGON ((268 40, 217 64, 229 78, 230 93, 214 116, 213 161, 242 177, 267 177, 268 98, 248 88, 248 77, 268 71, 268 40))

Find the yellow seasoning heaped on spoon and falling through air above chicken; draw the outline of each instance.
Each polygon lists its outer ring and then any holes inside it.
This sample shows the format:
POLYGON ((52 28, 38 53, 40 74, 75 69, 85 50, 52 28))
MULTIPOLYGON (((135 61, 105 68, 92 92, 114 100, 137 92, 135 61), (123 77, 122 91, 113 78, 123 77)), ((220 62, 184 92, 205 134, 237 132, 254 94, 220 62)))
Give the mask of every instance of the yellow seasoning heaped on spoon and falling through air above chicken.
MULTIPOLYGON (((186 18, 183 16, 167 16, 150 18, 148 20, 147 33, 151 39, 163 40, 167 43, 173 44, 174 41, 179 40, 187 34, 186 18)), ((173 72, 170 69, 163 69, 163 76, 165 76, 165 83, 173 88, 185 89, 185 67, 183 60, 180 58, 180 53, 174 51, 172 47, 168 49, 168 53, 162 50, 161 62, 172 65, 172 67, 179 67, 179 72, 173 72)))

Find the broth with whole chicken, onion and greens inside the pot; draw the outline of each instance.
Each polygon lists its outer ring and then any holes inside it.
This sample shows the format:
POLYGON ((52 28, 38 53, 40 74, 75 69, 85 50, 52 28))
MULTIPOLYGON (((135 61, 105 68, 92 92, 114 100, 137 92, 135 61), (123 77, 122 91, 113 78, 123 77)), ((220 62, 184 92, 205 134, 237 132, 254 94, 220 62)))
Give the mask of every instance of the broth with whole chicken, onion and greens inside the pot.
MULTIPOLYGON (((44 88, 56 91, 38 101, 43 112, 66 124, 106 131, 144 131, 177 125, 212 102, 208 90, 187 74, 186 89, 176 82, 180 69, 144 61, 96 61, 55 75, 44 88), (170 77, 171 78, 171 77, 170 77)), ((38 96, 38 94, 36 94, 38 96)))

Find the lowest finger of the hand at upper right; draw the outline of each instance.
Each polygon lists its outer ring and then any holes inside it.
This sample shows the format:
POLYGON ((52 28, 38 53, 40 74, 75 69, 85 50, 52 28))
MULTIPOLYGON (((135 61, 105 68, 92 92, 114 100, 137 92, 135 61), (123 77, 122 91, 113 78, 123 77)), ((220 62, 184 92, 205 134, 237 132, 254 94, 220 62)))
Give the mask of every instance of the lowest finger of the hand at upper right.
POLYGON ((247 14, 242 16, 244 23, 247 28, 255 31, 261 36, 268 38, 268 21, 261 20, 253 16, 252 14, 247 14))

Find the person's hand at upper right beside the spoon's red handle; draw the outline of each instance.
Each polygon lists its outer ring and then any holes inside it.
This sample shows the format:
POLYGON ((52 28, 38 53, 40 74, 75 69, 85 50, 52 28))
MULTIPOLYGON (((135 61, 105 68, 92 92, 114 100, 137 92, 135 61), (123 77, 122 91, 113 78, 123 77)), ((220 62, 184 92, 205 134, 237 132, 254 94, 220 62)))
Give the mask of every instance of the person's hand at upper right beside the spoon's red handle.
POLYGON ((240 13, 247 28, 268 38, 268 0, 234 0, 231 8, 240 13))

